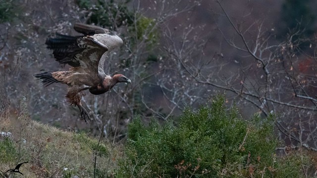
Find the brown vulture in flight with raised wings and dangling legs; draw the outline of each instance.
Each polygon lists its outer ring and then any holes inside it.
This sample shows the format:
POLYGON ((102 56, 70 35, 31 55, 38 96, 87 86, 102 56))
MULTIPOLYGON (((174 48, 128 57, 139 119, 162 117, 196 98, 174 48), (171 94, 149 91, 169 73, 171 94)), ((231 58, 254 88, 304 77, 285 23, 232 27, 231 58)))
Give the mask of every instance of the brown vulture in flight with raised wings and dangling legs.
POLYGON ((131 83, 131 80, 122 74, 110 76, 104 71, 106 54, 122 40, 108 29, 76 23, 75 31, 82 36, 69 36, 56 33, 49 37, 45 44, 53 49, 53 55, 62 65, 68 64, 68 71, 44 72, 35 77, 45 87, 53 83, 62 83, 68 86, 66 98, 71 105, 76 105, 80 117, 91 120, 87 110, 81 104, 83 91, 89 89, 92 94, 103 94, 112 89, 117 83, 131 83))

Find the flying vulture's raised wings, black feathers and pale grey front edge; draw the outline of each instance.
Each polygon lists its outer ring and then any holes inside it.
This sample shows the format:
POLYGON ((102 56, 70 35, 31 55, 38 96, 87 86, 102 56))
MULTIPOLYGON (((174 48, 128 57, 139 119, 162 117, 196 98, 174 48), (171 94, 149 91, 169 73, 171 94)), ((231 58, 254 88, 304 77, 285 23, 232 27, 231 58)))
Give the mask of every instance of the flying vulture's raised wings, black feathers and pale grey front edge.
POLYGON ((86 24, 75 24, 74 29, 84 36, 68 36, 56 33, 46 40, 48 48, 60 64, 84 69, 86 73, 103 76, 105 57, 103 54, 122 44, 122 40, 111 31, 86 24))

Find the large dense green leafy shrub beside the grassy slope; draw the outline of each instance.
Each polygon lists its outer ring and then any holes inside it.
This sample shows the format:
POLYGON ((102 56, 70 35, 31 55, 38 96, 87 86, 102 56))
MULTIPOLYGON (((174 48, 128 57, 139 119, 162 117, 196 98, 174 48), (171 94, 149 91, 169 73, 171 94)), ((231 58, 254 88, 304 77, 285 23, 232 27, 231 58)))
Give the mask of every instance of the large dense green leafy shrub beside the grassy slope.
POLYGON ((149 126, 135 119, 128 129, 126 158, 116 177, 164 178, 271 178, 301 177, 294 159, 277 160, 273 117, 251 121, 241 118, 236 107, 227 109, 217 96, 211 106, 186 109, 174 126, 149 126), (289 175, 289 170, 292 174, 289 175))

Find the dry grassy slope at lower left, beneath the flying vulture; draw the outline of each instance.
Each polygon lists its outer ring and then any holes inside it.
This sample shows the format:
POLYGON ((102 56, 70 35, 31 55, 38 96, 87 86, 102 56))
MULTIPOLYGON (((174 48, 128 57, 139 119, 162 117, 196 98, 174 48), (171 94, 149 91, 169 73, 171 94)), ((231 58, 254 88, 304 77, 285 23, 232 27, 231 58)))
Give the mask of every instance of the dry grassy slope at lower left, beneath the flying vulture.
MULTIPOLYGON (((5 172, 18 163, 29 161, 20 169, 24 178, 67 178, 73 175, 89 178, 94 176, 94 150, 98 150, 99 155, 96 166, 98 177, 106 176, 115 167, 119 154, 117 147, 106 142, 98 147, 98 140, 86 134, 40 124, 30 120, 27 111, 22 114, 14 112, 7 118, 0 118, 0 132, 13 135, 13 141, 0 138, 0 171, 5 172)), ((19 177, 18 174, 16 176, 19 177)))

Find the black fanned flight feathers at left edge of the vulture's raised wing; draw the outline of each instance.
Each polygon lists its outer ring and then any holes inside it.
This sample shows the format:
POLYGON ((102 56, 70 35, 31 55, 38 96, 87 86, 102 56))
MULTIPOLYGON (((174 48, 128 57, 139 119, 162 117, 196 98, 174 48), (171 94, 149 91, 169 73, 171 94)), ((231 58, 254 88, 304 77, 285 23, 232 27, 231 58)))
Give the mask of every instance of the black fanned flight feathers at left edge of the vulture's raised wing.
POLYGON ((72 67, 80 66, 78 60, 74 60, 77 53, 82 52, 85 47, 78 45, 78 39, 83 36, 68 36, 56 33, 55 37, 50 37, 45 44, 49 49, 53 49, 53 55, 60 64, 69 64, 72 67))

